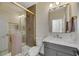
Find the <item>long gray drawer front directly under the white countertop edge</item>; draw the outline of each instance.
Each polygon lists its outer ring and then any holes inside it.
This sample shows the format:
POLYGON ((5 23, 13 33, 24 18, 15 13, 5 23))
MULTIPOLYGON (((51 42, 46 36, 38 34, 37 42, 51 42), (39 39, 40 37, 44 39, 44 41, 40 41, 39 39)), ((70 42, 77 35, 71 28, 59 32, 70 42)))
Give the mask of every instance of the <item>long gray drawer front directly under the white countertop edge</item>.
POLYGON ((64 46, 64 45, 58 45, 58 44, 49 43, 49 42, 44 42, 44 47, 54 49, 54 50, 57 50, 60 52, 64 52, 67 54, 71 54, 71 55, 75 55, 75 53, 76 53, 76 48, 68 47, 68 46, 64 46))

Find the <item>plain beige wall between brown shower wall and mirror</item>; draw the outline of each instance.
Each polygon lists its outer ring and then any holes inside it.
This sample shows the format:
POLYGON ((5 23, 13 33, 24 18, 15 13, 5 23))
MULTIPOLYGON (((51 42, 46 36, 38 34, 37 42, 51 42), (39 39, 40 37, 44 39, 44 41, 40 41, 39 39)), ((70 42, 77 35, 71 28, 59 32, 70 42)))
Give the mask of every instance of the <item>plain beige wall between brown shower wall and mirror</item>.
POLYGON ((49 33, 48 9, 49 3, 36 4, 36 38, 44 37, 49 33))

